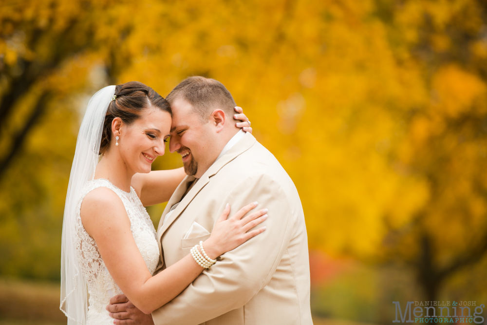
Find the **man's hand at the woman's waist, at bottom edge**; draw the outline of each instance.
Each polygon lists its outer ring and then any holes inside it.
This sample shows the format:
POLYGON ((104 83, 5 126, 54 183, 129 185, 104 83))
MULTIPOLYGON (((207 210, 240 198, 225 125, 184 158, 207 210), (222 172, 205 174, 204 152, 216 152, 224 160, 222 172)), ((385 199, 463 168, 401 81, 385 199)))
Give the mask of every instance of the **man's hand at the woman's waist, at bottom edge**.
POLYGON ((152 316, 144 314, 127 299, 124 294, 114 296, 107 305, 115 325, 154 325, 152 316))

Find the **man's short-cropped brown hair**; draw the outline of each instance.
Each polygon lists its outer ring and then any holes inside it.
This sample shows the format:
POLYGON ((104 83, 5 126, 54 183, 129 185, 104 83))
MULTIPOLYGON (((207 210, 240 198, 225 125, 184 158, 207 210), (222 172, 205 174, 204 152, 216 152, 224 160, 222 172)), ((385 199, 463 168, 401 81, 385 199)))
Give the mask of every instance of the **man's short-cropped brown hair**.
POLYGON ((171 105, 176 99, 183 98, 190 103, 200 115, 203 123, 215 109, 221 109, 233 116, 237 106, 232 94, 218 80, 203 76, 190 76, 181 81, 166 97, 171 105))

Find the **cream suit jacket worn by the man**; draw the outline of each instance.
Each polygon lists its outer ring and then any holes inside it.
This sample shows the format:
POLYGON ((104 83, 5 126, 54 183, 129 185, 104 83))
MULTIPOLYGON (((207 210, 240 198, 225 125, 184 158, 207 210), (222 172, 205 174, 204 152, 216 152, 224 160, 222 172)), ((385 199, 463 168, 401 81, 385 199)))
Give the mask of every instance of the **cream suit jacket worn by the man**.
POLYGON ((183 180, 162 215, 157 231, 160 268, 176 263, 206 240, 227 203, 231 216, 258 201, 257 209, 269 211, 257 227, 267 229, 220 256, 180 295, 155 310, 154 324, 313 324, 304 214, 298 191, 277 159, 247 133, 181 200, 194 179, 183 180), (180 201, 163 224, 170 208, 180 201), (183 239, 193 222, 208 233, 183 239))

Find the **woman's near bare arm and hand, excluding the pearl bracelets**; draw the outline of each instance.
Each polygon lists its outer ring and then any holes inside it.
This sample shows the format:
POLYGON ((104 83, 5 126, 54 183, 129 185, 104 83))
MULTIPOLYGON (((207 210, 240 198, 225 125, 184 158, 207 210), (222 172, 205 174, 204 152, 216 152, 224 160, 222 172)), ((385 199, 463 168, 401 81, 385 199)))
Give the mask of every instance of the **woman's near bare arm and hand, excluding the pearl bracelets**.
MULTIPOLYGON (((250 229, 266 219, 267 210, 259 210, 243 218, 256 206, 256 202, 251 203, 226 219, 230 211, 227 206, 210 238, 204 242, 206 254, 210 258, 215 259, 265 230, 265 227, 250 229)), ((152 276, 135 244, 122 201, 107 188, 95 189, 85 196, 81 205, 81 220, 95 240, 115 283, 133 305, 144 313, 148 314, 171 301, 204 269, 188 254, 176 264, 152 276)))

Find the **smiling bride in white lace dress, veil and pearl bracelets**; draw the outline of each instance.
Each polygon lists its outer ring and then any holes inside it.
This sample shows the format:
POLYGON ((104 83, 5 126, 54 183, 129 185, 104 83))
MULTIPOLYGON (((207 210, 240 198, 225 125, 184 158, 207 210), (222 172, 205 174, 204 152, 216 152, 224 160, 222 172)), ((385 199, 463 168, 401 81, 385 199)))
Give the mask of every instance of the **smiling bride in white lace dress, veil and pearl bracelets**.
MULTIPOLYGON (((243 114, 235 117, 247 120, 243 114)), ((149 173, 154 159, 164 154, 170 128, 168 102, 140 82, 105 87, 88 103, 63 221, 60 309, 69 325, 112 324, 105 306, 122 293, 149 314, 218 263, 218 256, 265 230, 252 228, 265 220, 267 210, 244 217, 256 202, 230 218, 227 205, 205 242, 152 276, 159 247, 144 206, 168 201, 185 173, 135 174, 149 173)))

